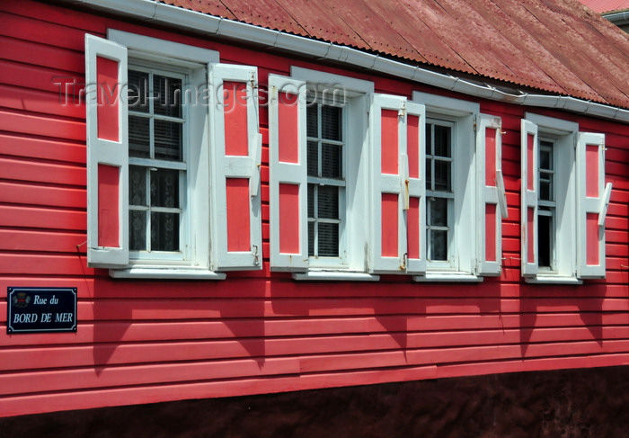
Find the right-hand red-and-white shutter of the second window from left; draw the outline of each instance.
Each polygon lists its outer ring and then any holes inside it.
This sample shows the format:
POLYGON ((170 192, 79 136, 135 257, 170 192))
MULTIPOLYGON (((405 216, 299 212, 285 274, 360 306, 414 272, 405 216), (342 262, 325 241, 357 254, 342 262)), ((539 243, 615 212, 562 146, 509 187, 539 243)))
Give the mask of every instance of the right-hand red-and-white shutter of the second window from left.
POLYGON ((376 94, 371 110, 372 273, 406 273, 406 99, 376 94), (404 157, 404 158, 403 158, 404 157))

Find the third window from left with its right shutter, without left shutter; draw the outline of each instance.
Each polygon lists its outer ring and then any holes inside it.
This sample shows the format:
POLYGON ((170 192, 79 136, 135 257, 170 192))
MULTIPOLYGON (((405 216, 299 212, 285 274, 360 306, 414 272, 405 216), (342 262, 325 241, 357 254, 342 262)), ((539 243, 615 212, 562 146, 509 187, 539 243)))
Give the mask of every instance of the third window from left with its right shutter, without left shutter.
POLYGON ((501 120, 477 103, 414 93, 426 105, 426 273, 417 281, 480 281, 501 273, 501 120))

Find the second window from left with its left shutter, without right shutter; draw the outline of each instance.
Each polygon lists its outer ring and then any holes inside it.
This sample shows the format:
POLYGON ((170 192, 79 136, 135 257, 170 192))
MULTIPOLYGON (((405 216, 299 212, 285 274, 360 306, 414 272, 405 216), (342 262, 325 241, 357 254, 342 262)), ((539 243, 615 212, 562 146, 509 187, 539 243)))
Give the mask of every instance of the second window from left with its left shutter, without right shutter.
POLYGON ((293 67, 269 76, 270 264, 307 280, 367 273, 373 84, 293 67))

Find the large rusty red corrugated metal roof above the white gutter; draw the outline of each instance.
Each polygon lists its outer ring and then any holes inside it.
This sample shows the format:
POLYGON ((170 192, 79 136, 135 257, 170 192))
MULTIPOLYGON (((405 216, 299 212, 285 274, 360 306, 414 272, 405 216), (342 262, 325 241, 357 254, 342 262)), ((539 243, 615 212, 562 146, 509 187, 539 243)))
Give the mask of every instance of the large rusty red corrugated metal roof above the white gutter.
POLYGON ((415 65, 629 108, 629 35, 577 0, 161 0, 415 65))

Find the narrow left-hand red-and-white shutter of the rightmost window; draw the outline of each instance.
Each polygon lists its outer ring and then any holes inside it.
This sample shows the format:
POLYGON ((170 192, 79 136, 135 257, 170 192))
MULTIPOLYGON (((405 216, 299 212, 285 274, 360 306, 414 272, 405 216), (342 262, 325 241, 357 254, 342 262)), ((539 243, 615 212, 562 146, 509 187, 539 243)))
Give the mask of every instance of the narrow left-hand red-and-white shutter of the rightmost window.
POLYGON ((521 124, 521 266, 523 276, 535 276, 537 264, 537 125, 521 124))

